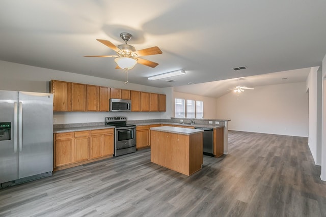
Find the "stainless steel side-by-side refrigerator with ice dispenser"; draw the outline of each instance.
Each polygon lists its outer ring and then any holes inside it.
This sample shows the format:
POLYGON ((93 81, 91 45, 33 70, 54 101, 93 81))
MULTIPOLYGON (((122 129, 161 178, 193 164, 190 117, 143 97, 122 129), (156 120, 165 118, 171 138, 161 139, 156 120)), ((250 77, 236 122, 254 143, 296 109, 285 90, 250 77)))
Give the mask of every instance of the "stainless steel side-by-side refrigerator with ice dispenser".
POLYGON ((52 170, 52 94, 0 90, 0 187, 52 170))

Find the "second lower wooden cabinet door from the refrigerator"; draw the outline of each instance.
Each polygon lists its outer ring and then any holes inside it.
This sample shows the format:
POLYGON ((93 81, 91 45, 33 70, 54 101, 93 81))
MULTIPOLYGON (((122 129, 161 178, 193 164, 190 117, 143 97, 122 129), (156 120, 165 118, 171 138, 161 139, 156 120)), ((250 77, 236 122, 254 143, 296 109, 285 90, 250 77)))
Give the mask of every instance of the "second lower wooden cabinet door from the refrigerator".
POLYGON ((86 161, 89 159, 89 137, 75 138, 73 143, 72 162, 86 161))

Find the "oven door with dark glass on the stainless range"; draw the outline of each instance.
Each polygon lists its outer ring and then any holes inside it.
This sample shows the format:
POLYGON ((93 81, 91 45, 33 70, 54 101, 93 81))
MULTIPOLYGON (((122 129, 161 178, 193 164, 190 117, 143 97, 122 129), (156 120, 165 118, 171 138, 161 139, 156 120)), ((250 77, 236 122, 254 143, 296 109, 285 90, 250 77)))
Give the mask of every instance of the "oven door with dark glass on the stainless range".
POLYGON ((115 149, 123 149, 136 145, 136 127, 116 127, 115 149))

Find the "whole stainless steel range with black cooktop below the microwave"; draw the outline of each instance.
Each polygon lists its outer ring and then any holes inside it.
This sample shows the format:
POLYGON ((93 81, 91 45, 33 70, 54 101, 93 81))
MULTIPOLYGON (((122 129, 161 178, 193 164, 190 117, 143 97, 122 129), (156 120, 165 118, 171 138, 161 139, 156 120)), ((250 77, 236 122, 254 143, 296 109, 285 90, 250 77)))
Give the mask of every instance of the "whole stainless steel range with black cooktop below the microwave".
POLYGON ((127 117, 105 117, 105 125, 115 127, 115 157, 136 151, 136 126, 127 124, 127 117))

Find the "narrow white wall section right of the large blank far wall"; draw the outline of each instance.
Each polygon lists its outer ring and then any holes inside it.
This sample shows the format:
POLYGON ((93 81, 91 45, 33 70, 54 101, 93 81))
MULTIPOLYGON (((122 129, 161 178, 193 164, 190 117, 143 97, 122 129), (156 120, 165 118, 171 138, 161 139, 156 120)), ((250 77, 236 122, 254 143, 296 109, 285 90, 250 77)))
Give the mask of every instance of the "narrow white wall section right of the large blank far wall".
POLYGON ((321 71, 310 70, 306 82, 309 93, 308 145, 315 164, 321 164, 321 71))

